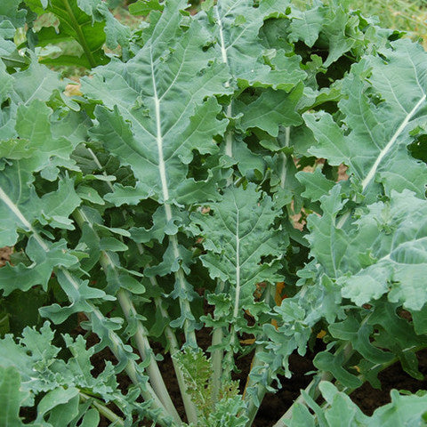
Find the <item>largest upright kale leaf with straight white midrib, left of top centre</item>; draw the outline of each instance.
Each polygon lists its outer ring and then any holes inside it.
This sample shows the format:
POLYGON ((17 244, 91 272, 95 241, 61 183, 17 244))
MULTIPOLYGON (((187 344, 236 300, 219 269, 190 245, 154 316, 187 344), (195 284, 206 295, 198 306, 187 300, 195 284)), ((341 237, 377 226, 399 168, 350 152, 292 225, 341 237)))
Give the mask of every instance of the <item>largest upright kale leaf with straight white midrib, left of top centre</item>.
MULTIPOLYGON (((182 31, 176 10, 184 7, 175 0, 163 13, 151 13, 150 38, 135 58, 97 68, 82 86, 86 96, 104 104, 95 111, 100 125, 93 136, 131 166, 136 197, 162 203, 179 199, 193 149, 216 150, 212 138, 226 122, 216 118, 216 101, 203 101, 230 92, 225 67, 213 62, 212 49, 204 49, 200 25, 192 22, 182 31)), ((114 201, 114 193, 108 198, 114 201)))

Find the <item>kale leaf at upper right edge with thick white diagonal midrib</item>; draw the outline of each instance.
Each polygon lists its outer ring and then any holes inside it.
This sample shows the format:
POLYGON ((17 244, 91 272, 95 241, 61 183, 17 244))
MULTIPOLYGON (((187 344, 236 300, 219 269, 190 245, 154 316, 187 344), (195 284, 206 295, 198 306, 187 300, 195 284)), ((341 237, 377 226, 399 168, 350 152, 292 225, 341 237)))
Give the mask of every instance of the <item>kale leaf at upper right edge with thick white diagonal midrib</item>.
POLYGON ((377 182, 387 195, 410 189, 424 197, 427 166, 411 157, 407 146, 413 142, 410 131, 427 117, 425 53, 402 40, 383 55, 385 60, 368 56, 344 79, 348 98, 339 107, 350 132, 326 113, 304 115, 318 141, 309 151, 330 165, 348 165, 371 201, 377 182))

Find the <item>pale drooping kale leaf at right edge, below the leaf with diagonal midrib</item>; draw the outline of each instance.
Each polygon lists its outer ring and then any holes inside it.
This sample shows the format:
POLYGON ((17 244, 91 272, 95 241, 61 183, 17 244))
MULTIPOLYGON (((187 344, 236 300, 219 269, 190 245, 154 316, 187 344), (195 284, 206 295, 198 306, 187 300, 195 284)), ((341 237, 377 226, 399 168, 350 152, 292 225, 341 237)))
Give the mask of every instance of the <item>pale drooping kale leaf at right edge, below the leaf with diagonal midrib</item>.
POLYGON ((347 249, 349 258, 358 253, 360 261, 348 277, 339 279, 342 295, 361 305, 388 293, 391 302, 421 310, 427 301, 422 285, 427 272, 427 202, 409 191, 391 191, 390 203, 368 209, 356 222, 357 240, 347 249))

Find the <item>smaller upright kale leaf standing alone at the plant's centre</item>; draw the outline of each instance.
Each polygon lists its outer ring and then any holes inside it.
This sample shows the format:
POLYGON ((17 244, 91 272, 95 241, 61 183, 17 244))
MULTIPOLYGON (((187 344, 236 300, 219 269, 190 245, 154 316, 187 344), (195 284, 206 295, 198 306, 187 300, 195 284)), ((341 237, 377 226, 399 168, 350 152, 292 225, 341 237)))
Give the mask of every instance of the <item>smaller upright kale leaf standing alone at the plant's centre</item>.
POLYGON ((280 278, 277 261, 287 244, 286 233, 272 226, 278 215, 273 202, 255 189, 225 189, 222 201, 210 205, 212 213, 192 215, 207 251, 202 262, 212 278, 230 286, 222 316, 240 324, 242 310, 254 310, 255 285, 280 278))

